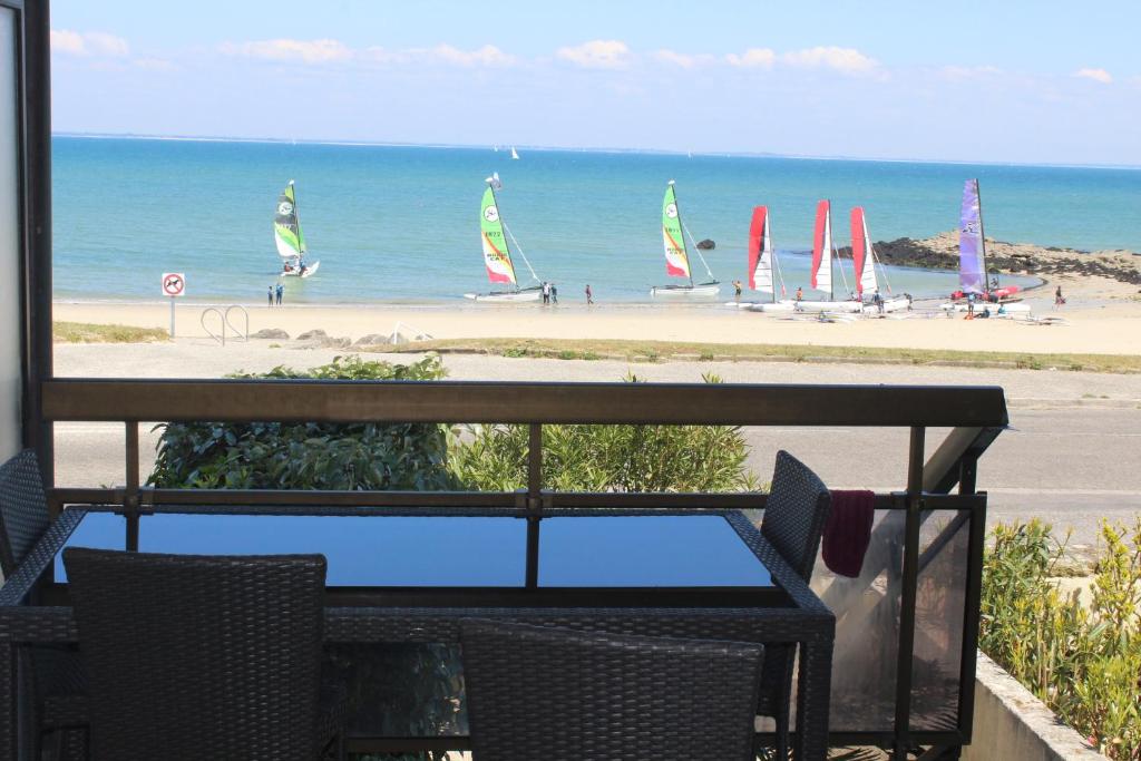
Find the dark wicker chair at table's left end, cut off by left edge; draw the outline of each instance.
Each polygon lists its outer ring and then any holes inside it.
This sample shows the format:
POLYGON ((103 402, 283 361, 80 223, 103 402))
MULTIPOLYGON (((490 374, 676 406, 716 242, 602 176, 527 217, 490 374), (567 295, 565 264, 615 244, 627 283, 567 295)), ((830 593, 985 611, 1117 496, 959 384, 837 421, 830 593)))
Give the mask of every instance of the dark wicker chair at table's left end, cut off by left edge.
MULTIPOLYGON (((35 452, 25 450, 0 465, 0 569, 5 578, 15 573, 50 523, 40 464, 35 452)), ((87 758, 87 678, 79 653, 35 647, 22 658, 30 665, 29 687, 34 696, 24 731, 37 740, 54 732, 56 759, 87 758)))

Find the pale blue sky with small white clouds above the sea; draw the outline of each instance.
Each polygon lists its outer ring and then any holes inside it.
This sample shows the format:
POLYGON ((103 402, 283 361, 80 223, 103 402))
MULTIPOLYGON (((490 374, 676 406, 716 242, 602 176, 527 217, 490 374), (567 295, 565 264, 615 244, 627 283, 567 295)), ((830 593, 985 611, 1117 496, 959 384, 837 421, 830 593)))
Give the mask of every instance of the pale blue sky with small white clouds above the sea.
POLYGON ((1141 165, 1141 1, 54 0, 58 132, 1141 165))

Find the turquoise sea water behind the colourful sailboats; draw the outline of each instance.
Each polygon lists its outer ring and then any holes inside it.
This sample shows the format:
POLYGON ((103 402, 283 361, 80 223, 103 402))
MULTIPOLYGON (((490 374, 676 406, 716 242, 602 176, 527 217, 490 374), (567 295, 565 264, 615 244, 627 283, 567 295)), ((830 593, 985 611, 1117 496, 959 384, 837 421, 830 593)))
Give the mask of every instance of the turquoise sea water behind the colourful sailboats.
MULTIPOLYGON (((808 289, 812 216, 831 197, 836 242, 863 204, 874 240, 954 229, 963 180, 978 177, 988 236, 1141 250, 1141 171, 484 148, 56 137, 55 291, 65 299, 157 300, 163 272, 192 299, 260 301, 278 257, 273 209, 290 178, 311 260, 288 299, 438 302, 486 290, 478 237, 484 177, 539 275, 564 298, 648 301, 664 284, 661 203, 679 204, 722 282, 745 280, 754 204, 768 204, 790 292, 808 289)), ((526 268, 517 257, 520 276, 526 268)), ((695 276, 703 275, 694 261, 695 276)), ((893 290, 940 296, 953 273, 889 268, 893 290)), ((851 273, 848 273, 849 281, 851 273)), ((839 272, 836 291, 842 290, 839 272)), ((1017 282, 1006 278, 1005 283, 1017 282)), ((723 293, 731 289, 726 285, 723 293)))

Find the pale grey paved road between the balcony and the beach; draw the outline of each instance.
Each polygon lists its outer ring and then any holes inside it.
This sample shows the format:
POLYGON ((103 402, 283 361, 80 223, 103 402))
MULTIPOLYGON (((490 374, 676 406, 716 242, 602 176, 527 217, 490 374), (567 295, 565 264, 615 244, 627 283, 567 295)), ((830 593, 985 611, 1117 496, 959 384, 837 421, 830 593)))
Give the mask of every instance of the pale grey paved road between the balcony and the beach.
MULTIPOLYGON (((187 356, 185 347, 153 347, 149 362, 131 347, 59 347, 60 374, 217 377, 235 367, 260 370, 278 363, 309 366, 333 351, 261 350, 219 354, 209 347, 187 356), (176 350, 177 349, 177 350, 176 350), (130 372, 124 372, 130 369, 130 372)), ((327 356, 326 356, 327 355, 327 356)), ((402 359, 406 361, 406 358, 402 359)), ((610 380, 625 363, 448 357, 452 378, 610 380)), ((652 380, 697 380, 698 363, 637 365, 652 380)), ((1102 518, 1132 525, 1141 516, 1141 381, 1136 377, 1034 371, 981 371, 792 363, 721 363, 712 367, 729 381, 768 382, 942 382, 1000 383, 1008 391, 1013 429, 980 461, 979 488, 990 494, 990 521, 1042 517, 1074 528, 1079 551, 1097 542, 1102 518), (1114 405, 1114 406, 1110 406, 1114 405)), ((928 452, 945 431, 928 434, 928 452)), ((746 431, 748 465, 771 472, 778 448, 808 461, 828 484, 903 488, 907 432, 897 429, 766 428, 746 431)), ((155 436, 144 431, 146 460, 155 436)), ((121 426, 60 423, 56 430, 57 483, 99 486, 123 481, 121 426)), ((143 463, 143 473, 151 461, 143 463)))

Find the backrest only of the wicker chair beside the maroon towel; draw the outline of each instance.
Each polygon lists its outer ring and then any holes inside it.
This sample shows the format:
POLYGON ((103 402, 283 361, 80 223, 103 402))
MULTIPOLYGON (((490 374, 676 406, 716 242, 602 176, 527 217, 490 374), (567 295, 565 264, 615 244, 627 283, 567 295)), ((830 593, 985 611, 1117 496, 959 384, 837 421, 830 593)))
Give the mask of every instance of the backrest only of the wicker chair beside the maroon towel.
POLYGON ((777 452, 761 535, 806 581, 816 565, 831 504, 828 487, 808 465, 784 450, 777 452))

